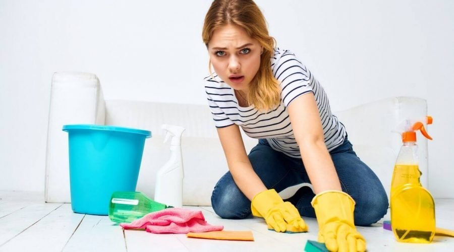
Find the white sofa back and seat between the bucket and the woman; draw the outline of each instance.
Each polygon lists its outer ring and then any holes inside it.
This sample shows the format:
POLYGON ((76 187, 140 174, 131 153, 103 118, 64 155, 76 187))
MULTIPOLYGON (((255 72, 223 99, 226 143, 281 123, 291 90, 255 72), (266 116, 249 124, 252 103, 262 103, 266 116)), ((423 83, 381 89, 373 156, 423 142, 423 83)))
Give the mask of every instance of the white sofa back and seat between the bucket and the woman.
MULTIPOLYGON (((145 141, 137 191, 154 197, 156 173, 170 156, 162 143, 162 124, 185 128, 181 146, 184 166, 183 204, 210 206, 211 192, 228 166, 208 105, 106 101, 106 124, 151 131, 145 141)), ((247 153, 257 144, 242 132, 247 153)))

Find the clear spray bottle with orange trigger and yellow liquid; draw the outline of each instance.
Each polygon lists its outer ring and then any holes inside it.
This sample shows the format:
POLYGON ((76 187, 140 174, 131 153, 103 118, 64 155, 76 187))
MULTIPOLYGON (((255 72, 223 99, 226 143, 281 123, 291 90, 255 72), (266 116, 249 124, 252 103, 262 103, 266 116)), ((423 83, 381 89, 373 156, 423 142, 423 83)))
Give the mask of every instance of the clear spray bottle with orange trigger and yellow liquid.
MULTIPOLYGON (((425 118, 427 124, 432 117, 425 118)), ((416 131, 432 138, 421 120, 406 120, 401 130, 403 145, 391 180, 391 223, 395 238, 401 242, 429 243, 435 235, 435 204, 419 180, 416 131)))

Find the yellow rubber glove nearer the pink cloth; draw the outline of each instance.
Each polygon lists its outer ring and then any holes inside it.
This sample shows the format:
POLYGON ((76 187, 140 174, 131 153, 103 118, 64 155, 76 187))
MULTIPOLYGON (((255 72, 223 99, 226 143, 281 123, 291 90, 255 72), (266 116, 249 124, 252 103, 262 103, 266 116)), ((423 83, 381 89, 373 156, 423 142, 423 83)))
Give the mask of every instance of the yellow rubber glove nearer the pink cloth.
POLYGON ((276 232, 307 232, 307 225, 290 202, 283 202, 274 189, 254 196, 251 202, 252 215, 263 217, 268 229, 276 232))

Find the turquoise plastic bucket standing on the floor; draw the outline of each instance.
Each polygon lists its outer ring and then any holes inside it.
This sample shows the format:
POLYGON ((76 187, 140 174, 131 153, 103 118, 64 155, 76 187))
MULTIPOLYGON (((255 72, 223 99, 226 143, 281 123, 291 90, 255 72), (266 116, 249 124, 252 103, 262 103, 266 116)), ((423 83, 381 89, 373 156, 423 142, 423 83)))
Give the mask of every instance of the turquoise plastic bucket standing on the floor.
POLYGON ((107 215, 115 191, 136 191, 145 139, 151 132, 92 124, 64 125, 69 136, 71 207, 107 215))

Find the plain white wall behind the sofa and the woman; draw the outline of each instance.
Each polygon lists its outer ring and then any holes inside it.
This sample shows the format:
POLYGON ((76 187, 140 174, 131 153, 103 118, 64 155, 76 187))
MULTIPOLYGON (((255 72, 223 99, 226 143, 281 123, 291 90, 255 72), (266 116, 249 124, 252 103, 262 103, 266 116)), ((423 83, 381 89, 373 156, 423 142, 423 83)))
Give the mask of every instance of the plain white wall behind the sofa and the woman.
MULTIPOLYGON (((44 190, 53 72, 95 73, 106 99, 206 104, 201 28, 210 2, 0 0, 0 190, 44 190)), ((429 189, 454 198, 453 1, 257 4, 334 111, 391 96, 427 99, 429 189)))

